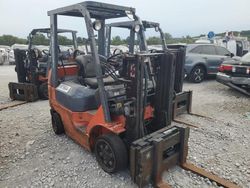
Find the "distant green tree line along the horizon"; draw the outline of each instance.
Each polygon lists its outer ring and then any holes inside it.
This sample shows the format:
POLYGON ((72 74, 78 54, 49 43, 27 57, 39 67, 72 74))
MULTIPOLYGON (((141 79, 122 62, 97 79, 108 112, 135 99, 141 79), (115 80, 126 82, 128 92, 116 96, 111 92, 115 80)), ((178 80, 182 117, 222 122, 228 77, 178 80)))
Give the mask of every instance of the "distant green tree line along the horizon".
MULTIPOLYGON (((235 36, 238 36, 240 34, 240 36, 250 38, 250 30, 241 31, 241 32, 233 31, 233 33, 235 36)), ((219 33, 217 35, 224 36, 225 33, 219 33)), ((200 35, 200 36, 204 36, 204 35, 200 35)), ((171 34, 165 33, 165 40, 166 40, 167 44, 173 44, 173 43, 187 43, 187 44, 189 44, 189 43, 193 43, 195 41, 195 38, 197 38, 197 37, 191 37, 189 35, 183 36, 181 38, 174 38, 174 37, 172 37, 171 34)), ((129 37, 127 37, 126 39, 122 39, 120 36, 115 36, 112 38, 111 44, 112 45, 128 44, 128 41, 129 41, 129 37)), ((58 42, 60 45, 72 45, 73 44, 72 39, 69 39, 66 36, 61 36, 61 35, 58 35, 58 42)), ((137 41, 135 41, 135 42, 137 43, 137 41)), ((27 44, 28 39, 18 38, 18 37, 13 36, 13 35, 0 36, 0 45, 11 46, 15 43, 27 44)), ((49 45, 49 39, 48 39, 48 37, 46 37, 43 34, 36 34, 33 37, 32 43, 35 45, 49 45)), ((84 45, 87 43, 87 39, 77 37, 77 43, 78 43, 78 45, 84 45)), ((156 37, 156 36, 148 37, 147 43, 148 43, 148 45, 159 45, 159 44, 161 44, 161 39, 160 39, 160 37, 156 37)))

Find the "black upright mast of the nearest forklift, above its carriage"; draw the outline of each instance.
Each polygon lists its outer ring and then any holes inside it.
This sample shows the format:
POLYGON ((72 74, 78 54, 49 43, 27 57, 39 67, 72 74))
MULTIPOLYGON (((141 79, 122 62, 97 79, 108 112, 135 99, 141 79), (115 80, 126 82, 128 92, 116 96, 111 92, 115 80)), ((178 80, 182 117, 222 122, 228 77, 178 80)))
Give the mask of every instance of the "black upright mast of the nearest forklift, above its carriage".
MULTIPOLYGON (((130 55, 124 59, 122 75, 127 97, 134 105, 126 117, 129 145, 145 135, 171 124, 175 59, 170 52, 130 55), (144 120, 145 110, 154 109, 152 119, 144 120)), ((126 105, 126 104, 125 104, 126 105)))

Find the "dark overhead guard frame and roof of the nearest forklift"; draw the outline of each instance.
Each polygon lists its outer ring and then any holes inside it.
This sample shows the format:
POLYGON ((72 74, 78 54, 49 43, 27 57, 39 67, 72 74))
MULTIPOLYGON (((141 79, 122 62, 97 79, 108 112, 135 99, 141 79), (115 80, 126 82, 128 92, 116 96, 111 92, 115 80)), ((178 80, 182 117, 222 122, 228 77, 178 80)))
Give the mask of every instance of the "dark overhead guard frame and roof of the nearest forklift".
MULTIPOLYGON (((99 54, 100 55, 104 54, 105 50, 104 48, 99 48, 99 51, 97 50, 93 23, 91 19, 95 18, 95 19, 101 20, 102 24, 105 24, 106 19, 127 17, 127 13, 126 13, 127 11, 130 11, 134 16, 134 19, 138 20, 138 17, 135 15, 135 9, 133 8, 117 6, 117 5, 107 4, 107 3, 92 2, 92 1, 86 1, 83 3, 48 11, 48 16, 50 16, 50 25, 51 25, 51 54, 52 54, 52 79, 51 79, 50 84, 53 87, 58 86, 57 16, 64 15, 64 16, 84 17, 87 34, 88 34, 88 38, 90 41, 90 48, 92 52, 93 63, 95 65, 95 70, 96 70, 100 101, 101 101, 101 105, 103 108, 106 122, 110 122, 111 117, 110 117, 110 111, 108 108, 107 96, 106 96, 106 92, 104 89, 104 83, 103 83, 103 78, 102 78, 102 69, 101 69, 100 60, 99 60, 99 54)), ((105 36, 104 32, 105 32, 104 29, 101 29, 98 32, 98 35, 100 36, 100 39, 98 40, 98 42, 104 41, 104 38, 103 38, 105 36)))

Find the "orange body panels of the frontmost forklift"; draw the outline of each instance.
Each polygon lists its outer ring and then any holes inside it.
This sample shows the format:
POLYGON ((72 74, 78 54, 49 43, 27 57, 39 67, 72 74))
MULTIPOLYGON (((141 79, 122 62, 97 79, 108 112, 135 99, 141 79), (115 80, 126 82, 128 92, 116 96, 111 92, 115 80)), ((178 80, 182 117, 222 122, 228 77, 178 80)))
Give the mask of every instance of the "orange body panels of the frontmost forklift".
MULTIPOLYGON (((76 75, 77 71, 77 65, 65 66, 64 68, 58 67, 58 77, 62 78, 63 76, 65 76, 65 73, 66 75, 76 75)), ((97 133, 98 135, 108 132, 120 134, 126 130, 126 119, 122 115, 112 116, 112 122, 105 122, 102 106, 99 106, 99 108, 94 111, 72 112, 59 104, 56 100, 55 88, 50 85, 51 71, 49 71, 48 78, 49 102, 51 108, 60 114, 66 134, 73 140, 78 142, 80 145, 82 145, 84 148, 91 150, 91 148, 93 147, 93 133, 97 133), (79 129, 77 129, 78 127, 84 127, 85 131, 79 131, 79 129)), ((144 117, 145 119, 153 117, 152 107, 146 107, 144 117)))

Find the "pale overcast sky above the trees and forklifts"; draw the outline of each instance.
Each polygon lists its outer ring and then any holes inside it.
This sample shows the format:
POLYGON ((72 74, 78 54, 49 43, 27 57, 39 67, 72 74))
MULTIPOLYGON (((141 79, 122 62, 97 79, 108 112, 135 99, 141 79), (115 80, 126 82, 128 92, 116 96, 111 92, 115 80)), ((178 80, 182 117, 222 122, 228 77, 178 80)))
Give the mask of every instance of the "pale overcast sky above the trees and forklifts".
MULTIPOLYGON (((99 1, 99 0, 97 0, 99 1)), ((0 0, 0 35, 26 38, 33 28, 48 27, 47 11, 79 0, 0 0)), ((143 20, 159 22, 174 37, 250 30, 249 0, 102 0, 136 8, 143 20)), ((84 34, 79 18, 62 18, 59 27, 84 34)), ((121 33, 121 35, 123 35, 121 33)))

